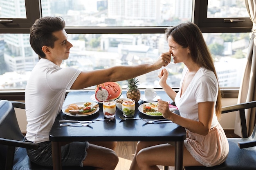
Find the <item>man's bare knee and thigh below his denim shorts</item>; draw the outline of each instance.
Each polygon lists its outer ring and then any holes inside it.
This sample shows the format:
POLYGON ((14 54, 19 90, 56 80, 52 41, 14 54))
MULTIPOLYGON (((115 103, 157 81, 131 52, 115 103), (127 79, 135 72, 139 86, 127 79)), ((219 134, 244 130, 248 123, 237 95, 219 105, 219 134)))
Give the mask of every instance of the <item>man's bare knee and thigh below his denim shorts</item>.
POLYGON ((89 144, 83 166, 95 167, 95 170, 114 170, 118 156, 114 150, 94 144, 89 144))

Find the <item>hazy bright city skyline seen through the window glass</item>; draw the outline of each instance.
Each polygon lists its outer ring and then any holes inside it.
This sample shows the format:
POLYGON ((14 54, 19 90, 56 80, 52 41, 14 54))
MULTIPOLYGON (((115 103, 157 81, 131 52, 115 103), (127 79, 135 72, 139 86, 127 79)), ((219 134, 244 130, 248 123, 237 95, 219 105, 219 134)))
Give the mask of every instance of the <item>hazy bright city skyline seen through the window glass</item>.
MULTIPOLYGON (((0 3, 1 2, 4 2, 4 0, 0 0, 0 3)), ((192 10, 192 4, 190 3, 192 0, 186 0, 188 3, 183 3, 184 1, 180 2, 178 0, 122 0, 119 4, 115 3, 116 0, 97 0, 90 2, 91 8, 83 8, 81 5, 79 6, 82 2, 84 1, 42 0, 43 15, 61 15, 67 22, 67 25, 70 23, 74 24, 70 21, 80 21, 81 24, 96 24, 97 26, 103 26, 103 23, 106 22, 106 26, 108 24, 113 25, 115 22, 121 23, 119 22, 121 18, 124 21, 123 23, 128 25, 130 24, 129 26, 134 26, 134 24, 141 26, 140 24, 151 23, 148 22, 149 20, 159 20, 159 23, 163 24, 166 22, 161 21, 168 21, 171 16, 175 17, 175 15, 182 17, 182 19, 172 20, 172 23, 184 22, 185 20, 188 20, 187 18, 190 13, 189 10, 192 10), (130 2, 130 6, 126 5, 127 2, 130 2), (143 5, 145 3, 148 5, 143 5), (139 4, 137 5, 137 10, 133 9, 132 13, 128 11, 130 7, 135 7, 135 4, 139 4), (126 7, 124 9, 124 13, 121 13, 120 16, 117 15, 116 17, 113 17, 113 15, 119 11, 119 8, 117 8, 118 5, 121 5, 120 8, 126 7), (153 6, 156 6, 157 8, 153 6), (56 7, 56 9, 53 7, 56 7), (179 10, 168 10, 170 7, 179 10), (112 10, 112 8, 116 9, 116 11, 112 10), (86 14, 86 18, 88 20, 84 19, 81 21, 81 17, 85 15, 84 9, 90 9, 90 11, 94 11, 94 13, 86 14), (111 17, 107 15, 109 13, 109 9, 112 11, 110 15, 111 17), (153 9, 152 14, 154 14, 154 16, 148 15, 148 9, 153 9), (99 10, 102 10, 103 12, 99 10), (135 15, 135 11, 140 11, 140 13, 136 13, 135 15), (143 13, 141 11, 145 12, 143 13), (156 15, 157 11, 161 11, 161 14, 164 14, 160 15, 161 19, 156 15), (78 13, 81 15, 78 15, 78 13), (166 17, 166 15, 168 17, 166 17), (148 16, 150 16, 150 18, 148 16), (102 20, 102 18, 104 20, 102 20), (129 20, 131 22, 129 22, 129 20)), ((13 12, 8 13, 4 10, 8 9, 9 11, 17 11, 17 6, 21 9, 22 7, 25 8, 25 4, 22 4, 22 2, 18 0, 13 1, 13 3, 13 9, 5 7, 2 3, 0 13, 4 13, 11 17, 13 12)), ((4 4, 7 5, 6 3, 4 4)), ((23 16, 24 10, 20 10, 20 14, 18 15, 23 16)), ((169 22, 169 24, 170 23, 171 22, 169 22)), ((234 38, 225 42, 220 36, 221 34, 218 33, 204 34, 205 41, 208 45, 219 44, 224 47, 223 54, 213 56, 215 59, 218 58, 218 62, 216 61, 215 64, 216 68, 218 68, 217 72, 220 79, 220 86, 239 86, 240 73, 243 71, 243 68, 239 67, 239 65, 234 67, 234 65, 236 65, 235 63, 241 64, 244 61, 238 61, 238 59, 236 59, 235 62, 232 56, 239 50, 245 50, 245 46, 248 43, 247 41, 244 41, 246 40, 245 38, 239 40, 234 38), (241 47, 243 44, 245 44, 245 46, 241 47), (223 67, 223 64, 227 63, 230 63, 228 64, 229 66, 223 67)), ((73 48, 70 50, 70 58, 63 61, 62 66, 75 67, 81 70, 106 68, 114 65, 137 65, 145 62, 152 62, 160 53, 168 50, 168 44, 164 34, 72 34, 68 35, 68 38, 70 42, 72 42, 73 48)), ((0 50, 0 55, 3 54, 3 56, 0 56, 0 88, 25 88, 29 72, 38 62, 38 56, 31 49, 29 44, 29 34, 2 34, 0 49, 2 49, 2 51, 0 50), (2 66, 3 62, 4 67, 2 66), (4 69, 6 70, 3 72, 4 69)), ((172 87, 179 87, 178 82, 180 82, 182 68, 182 64, 170 64, 168 66, 168 71, 171 73, 168 78, 168 83, 170 83, 172 87)), ((140 88, 159 87, 157 82, 158 72, 159 70, 140 76, 140 88)), ((120 83, 122 85, 124 84, 124 82, 120 83)), ((125 87, 123 86, 123 88, 125 87)))

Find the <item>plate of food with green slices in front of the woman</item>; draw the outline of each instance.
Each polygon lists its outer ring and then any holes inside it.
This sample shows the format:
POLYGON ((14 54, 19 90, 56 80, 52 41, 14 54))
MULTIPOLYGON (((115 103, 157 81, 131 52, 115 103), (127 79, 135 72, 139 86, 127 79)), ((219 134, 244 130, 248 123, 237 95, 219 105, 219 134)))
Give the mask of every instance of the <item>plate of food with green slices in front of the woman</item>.
POLYGON ((147 102, 139 106, 139 111, 147 116, 162 117, 162 113, 157 111, 157 102, 147 102))

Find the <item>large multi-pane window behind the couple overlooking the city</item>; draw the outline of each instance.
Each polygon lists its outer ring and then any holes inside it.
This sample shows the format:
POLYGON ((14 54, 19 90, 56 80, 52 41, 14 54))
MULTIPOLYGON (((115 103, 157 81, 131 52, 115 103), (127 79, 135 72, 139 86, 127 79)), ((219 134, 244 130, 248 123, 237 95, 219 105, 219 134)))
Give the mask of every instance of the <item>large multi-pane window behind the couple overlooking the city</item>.
MULTIPOLYGON (((29 27, 44 16, 64 18, 73 47, 61 67, 81 70, 154 61, 168 50, 165 28, 195 22, 213 54, 221 87, 239 87, 252 29, 243 0, 0 0, 0 19, 12 20, 0 22, 0 89, 25 88, 38 61, 29 27)), ((183 67, 168 65, 171 87, 179 88, 183 67)), ((139 76, 139 88, 160 88, 158 72, 139 76)))

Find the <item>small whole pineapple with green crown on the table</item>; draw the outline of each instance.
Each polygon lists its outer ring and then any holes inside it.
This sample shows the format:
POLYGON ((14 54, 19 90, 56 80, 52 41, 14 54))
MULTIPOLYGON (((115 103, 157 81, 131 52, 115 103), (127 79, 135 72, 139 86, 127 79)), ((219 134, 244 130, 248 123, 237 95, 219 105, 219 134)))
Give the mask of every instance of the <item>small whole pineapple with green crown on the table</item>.
POLYGON ((126 93, 126 97, 134 100, 135 102, 138 102, 140 99, 140 92, 137 87, 137 85, 138 85, 137 83, 139 81, 138 81, 138 79, 135 79, 135 78, 131 78, 131 79, 127 80, 126 85, 128 85, 128 87, 127 87, 128 91, 126 93))

